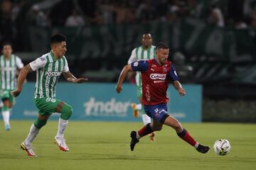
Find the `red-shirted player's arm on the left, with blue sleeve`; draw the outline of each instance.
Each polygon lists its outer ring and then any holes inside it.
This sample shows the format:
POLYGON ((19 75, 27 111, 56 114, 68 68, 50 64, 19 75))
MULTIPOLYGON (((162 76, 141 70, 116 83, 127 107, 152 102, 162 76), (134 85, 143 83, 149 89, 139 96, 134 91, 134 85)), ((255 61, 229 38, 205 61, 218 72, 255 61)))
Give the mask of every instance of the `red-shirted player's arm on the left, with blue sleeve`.
POLYGON ((122 69, 121 74, 119 75, 119 79, 117 81, 116 91, 119 94, 122 91, 122 84, 124 82, 125 77, 127 77, 128 72, 144 72, 149 69, 149 63, 147 61, 139 61, 139 62, 132 62, 131 64, 127 64, 122 69))

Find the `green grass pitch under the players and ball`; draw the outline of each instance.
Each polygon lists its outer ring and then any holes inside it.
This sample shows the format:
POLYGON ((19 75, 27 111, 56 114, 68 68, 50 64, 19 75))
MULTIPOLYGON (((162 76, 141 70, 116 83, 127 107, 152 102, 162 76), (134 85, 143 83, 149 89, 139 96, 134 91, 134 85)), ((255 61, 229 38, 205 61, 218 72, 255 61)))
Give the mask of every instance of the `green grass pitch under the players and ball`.
POLYGON ((49 121, 33 142, 38 157, 28 157, 19 148, 33 121, 11 121, 11 131, 0 123, 0 169, 255 169, 256 125, 224 123, 183 123, 198 142, 210 146, 207 154, 177 137, 164 127, 156 142, 144 137, 129 150, 129 132, 142 123, 105 123, 70 121, 65 138, 70 152, 53 143, 58 122, 49 121), (221 157, 213 152, 218 138, 230 141, 231 151, 221 157))

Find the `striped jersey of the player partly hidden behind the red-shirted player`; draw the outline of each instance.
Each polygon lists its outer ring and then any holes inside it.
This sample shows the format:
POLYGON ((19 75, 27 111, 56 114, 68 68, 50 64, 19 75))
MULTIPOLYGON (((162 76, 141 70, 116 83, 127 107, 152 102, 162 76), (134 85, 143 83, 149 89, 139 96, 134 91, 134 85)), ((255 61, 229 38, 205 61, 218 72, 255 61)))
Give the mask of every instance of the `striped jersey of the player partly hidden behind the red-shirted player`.
MULTIPOLYGON (((156 46, 151 45, 147 50, 144 50, 144 47, 139 46, 132 50, 132 55, 129 57, 128 64, 132 62, 137 62, 140 60, 150 60, 154 59, 156 56, 156 46)), ((137 86, 142 86, 142 74, 137 72, 136 74, 136 84, 137 86)))

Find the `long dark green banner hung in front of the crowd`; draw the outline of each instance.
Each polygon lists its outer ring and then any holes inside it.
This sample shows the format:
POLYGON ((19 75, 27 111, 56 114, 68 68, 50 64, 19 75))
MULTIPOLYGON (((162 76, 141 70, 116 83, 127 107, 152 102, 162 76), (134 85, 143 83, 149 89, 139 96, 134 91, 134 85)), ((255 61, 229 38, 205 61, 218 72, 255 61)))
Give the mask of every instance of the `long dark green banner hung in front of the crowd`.
MULTIPOLYGON (((117 24, 85 27, 38 28, 24 24, 22 38, 25 49, 47 52, 54 33, 67 36, 68 60, 104 59, 127 63, 134 47, 141 45, 142 34, 151 33, 154 43, 166 42, 171 52, 182 51, 186 60, 250 62, 256 60, 255 30, 219 28, 204 21, 186 17, 164 24, 117 24), (27 42, 29 40, 29 42, 27 42), (191 58, 193 57, 193 59, 191 58)), ((24 59, 30 56, 23 55, 24 59)), ((82 63, 86 64, 86 63, 82 63)), ((97 65, 100 64, 97 62, 97 65)), ((90 68, 92 62, 87 64, 90 68)), ((103 67, 103 66, 102 66, 103 67)), ((93 67, 91 68, 93 69, 93 67)))

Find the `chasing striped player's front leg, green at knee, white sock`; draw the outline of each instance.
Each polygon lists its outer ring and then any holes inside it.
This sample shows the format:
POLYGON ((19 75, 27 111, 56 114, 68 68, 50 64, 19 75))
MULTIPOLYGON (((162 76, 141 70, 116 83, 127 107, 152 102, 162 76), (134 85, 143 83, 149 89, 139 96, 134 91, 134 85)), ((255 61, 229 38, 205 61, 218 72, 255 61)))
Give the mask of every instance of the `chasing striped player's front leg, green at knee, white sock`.
POLYGON ((64 131, 68 126, 68 119, 73 113, 73 108, 67 103, 60 101, 55 108, 55 112, 60 113, 58 132, 55 136, 54 142, 60 147, 61 150, 67 152, 69 151, 68 145, 65 143, 64 131))

